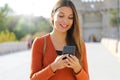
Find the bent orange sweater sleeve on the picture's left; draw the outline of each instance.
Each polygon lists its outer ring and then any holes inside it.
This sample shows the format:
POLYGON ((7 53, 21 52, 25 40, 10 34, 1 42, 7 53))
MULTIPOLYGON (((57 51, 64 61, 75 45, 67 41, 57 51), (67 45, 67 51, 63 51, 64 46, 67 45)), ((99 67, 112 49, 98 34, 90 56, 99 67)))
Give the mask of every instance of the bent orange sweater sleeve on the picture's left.
POLYGON ((36 38, 32 46, 30 80, 48 80, 54 75, 50 65, 42 68, 44 38, 36 38))

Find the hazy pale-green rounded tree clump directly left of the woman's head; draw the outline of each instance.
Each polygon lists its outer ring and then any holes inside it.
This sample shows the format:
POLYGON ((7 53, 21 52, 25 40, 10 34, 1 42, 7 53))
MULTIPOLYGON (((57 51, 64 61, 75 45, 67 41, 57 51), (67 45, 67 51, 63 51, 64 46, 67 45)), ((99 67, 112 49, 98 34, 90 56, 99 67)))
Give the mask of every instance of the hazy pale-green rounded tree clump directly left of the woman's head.
POLYGON ((43 17, 21 16, 14 28, 17 39, 36 32, 50 32, 50 23, 43 17))

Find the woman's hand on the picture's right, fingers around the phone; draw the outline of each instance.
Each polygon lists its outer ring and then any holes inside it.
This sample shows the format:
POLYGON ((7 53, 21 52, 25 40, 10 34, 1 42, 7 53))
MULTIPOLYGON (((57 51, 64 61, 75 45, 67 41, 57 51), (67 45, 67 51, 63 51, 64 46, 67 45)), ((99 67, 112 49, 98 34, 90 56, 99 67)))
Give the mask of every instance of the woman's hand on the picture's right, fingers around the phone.
POLYGON ((81 69, 82 66, 76 56, 73 55, 67 55, 67 58, 65 59, 65 66, 72 68, 75 73, 78 73, 81 69))

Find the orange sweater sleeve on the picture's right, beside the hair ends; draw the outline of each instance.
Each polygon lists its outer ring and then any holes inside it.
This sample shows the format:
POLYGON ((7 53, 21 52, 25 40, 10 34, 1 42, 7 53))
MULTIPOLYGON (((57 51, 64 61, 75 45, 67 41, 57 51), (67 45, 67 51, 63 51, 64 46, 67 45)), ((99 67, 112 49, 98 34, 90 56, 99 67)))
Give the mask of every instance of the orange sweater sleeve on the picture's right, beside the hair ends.
POLYGON ((76 78, 77 78, 77 80, 90 80, 89 73, 88 73, 87 54, 86 54, 85 43, 83 44, 82 64, 83 64, 82 69, 76 75, 76 78))

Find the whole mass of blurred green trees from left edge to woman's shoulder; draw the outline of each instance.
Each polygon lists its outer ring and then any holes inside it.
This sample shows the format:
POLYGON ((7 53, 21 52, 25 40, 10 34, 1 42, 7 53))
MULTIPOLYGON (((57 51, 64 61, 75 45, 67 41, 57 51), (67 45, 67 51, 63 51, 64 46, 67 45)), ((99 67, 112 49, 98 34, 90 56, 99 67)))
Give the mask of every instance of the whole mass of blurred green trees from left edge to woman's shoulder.
POLYGON ((13 32, 14 35, 16 35, 17 40, 20 40, 27 34, 33 35, 37 32, 48 33, 51 30, 52 27, 50 22, 44 17, 13 15, 12 10, 7 4, 0 8, 1 35, 4 34, 5 36, 5 34, 9 32, 13 32))

